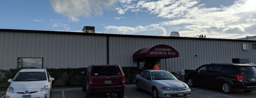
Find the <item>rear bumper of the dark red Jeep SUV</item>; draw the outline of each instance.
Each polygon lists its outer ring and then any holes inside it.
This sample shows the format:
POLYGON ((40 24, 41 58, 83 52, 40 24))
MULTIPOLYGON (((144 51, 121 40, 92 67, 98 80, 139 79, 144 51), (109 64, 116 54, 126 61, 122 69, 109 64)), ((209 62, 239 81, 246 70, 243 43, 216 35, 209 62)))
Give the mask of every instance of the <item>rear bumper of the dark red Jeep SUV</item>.
POLYGON ((89 87, 89 93, 120 93, 125 90, 125 85, 122 86, 97 86, 89 87))

